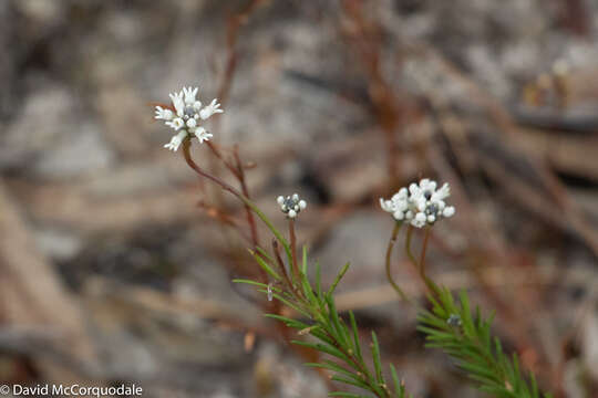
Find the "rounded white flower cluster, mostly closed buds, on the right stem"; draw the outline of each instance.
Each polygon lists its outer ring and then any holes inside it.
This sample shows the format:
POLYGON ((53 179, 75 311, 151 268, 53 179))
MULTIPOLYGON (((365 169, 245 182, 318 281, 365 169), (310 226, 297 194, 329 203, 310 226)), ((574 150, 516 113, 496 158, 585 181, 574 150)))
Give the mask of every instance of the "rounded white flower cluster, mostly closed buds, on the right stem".
POLYGON ((396 221, 408 221, 416 228, 433 224, 455 213, 455 208, 444 202, 451 196, 448 184, 440 189, 436 187, 436 181, 424 178, 420 184, 410 185, 409 189, 401 188, 390 200, 380 198, 380 207, 392 213, 396 221))

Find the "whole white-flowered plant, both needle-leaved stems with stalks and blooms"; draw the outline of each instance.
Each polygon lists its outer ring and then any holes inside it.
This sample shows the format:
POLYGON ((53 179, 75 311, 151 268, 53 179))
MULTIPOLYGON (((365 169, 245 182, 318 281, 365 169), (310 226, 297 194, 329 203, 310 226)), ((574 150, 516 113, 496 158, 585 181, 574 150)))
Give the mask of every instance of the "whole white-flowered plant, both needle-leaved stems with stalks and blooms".
MULTIPOLYGON (((310 367, 327 369, 331 379, 359 388, 364 392, 332 391, 331 397, 406 397, 404 383, 399 378, 396 369, 390 365, 390 377, 383 370, 381 350, 375 333, 372 332, 370 356, 362 350, 359 328, 352 312, 341 316, 334 304, 334 291, 342 276, 349 269, 347 263, 338 273, 333 283, 324 289, 320 277, 320 265, 316 262, 315 279, 308 276, 308 251, 302 247, 301 254, 297 253, 297 239, 295 222, 307 202, 298 193, 280 196, 277 202, 286 214, 288 222, 288 240, 278 231, 268 217, 249 199, 245 180, 240 178, 241 190, 224 182, 220 178, 210 175, 198 166, 190 155, 190 139, 195 136, 199 144, 207 142, 212 134, 197 125, 199 119, 205 121, 214 114, 221 113, 219 104, 214 100, 208 106, 202 108, 196 100, 197 88, 183 88, 179 93, 171 94, 172 105, 156 106, 156 118, 178 132, 166 148, 177 150, 183 145, 183 155, 187 165, 200 177, 218 185, 223 190, 234 195, 245 206, 250 220, 252 248, 249 251, 256 260, 265 277, 261 281, 237 279, 234 282, 245 283, 258 287, 258 292, 266 294, 268 301, 275 300, 292 310, 290 316, 280 313, 266 316, 282 322, 288 327, 298 331, 299 336, 311 336, 309 339, 295 339, 292 343, 309 347, 320 354, 327 355, 317 363, 306 364, 310 367), (257 232, 252 223, 252 216, 257 216, 272 234, 272 247, 268 251, 258 244, 257 232), (368 364, 372 363, 373 366, 368 364)), ((228 163, 219 149, 207 143, 214 155, 225 163, 225 166, 236 176, 243 177, 243 167, 237 161, 228 163), (240 175, 239 175, 240 172, 240 175)), ((235 151, 235 159, 238 154, 235 151)), ((496 397, 539 397, 534 376, 529 381, 522 376, 516 356, 508 357, 503 353, 497 338, 491 337, 492 316, 483 318, 480 311, 470 310, 468 297, 461 293, 456 303, 446 289, 436 285, 425 272, 425 252, 432 227, 443 218, 455 213, 452 206, 446 205, 450 197, 450 187, 430 179, 422 179, 409 188, 401 188, 390 200, 380 199, 382 210, 392 214, 395 226, 386 250, 386 276, 398 294, 409 303, 412 301, 402 292, 391 275, 391 258, 396 238, 403 223, 408 224, 405 234, 405 254, 417 275, 427 289, 427 298, 432 310, 419 307, 419 329, 427 335, 429 346, 440 347, 455 358, 457 365, 485 391, 496 397), (419 259, 411 251, 413 229, 424 228, 425 234, 419 259)), ((413 303, 412 303, 413 304, 413 303)))

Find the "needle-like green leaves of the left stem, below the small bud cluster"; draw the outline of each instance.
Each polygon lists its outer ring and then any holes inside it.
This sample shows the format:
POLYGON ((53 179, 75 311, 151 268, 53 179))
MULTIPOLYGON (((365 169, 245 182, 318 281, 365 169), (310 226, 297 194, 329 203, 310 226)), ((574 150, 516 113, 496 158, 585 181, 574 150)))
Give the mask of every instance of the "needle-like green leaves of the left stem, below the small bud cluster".
MULTIPOLYGON (((349 269, 349 264, 342 268, 330 289, 324 292, 321 287, 319 264, 316 264, 315 286, 307 276, 308 258, 306 248, 302 251, 301 269, 299 270, 300 280, 292 282, 280 276, 280 274, 291 274, 291 270, 281 269, 285 265, 277 264, 272 256, 261 250, 259 254, 252 254, 258 264, 276 281, 280 282, 277 286, 270 286, 272 296, 295 310, 302 318, 296 320, 277 314, 267 314, 266 316, 299 331, 299 335, 311 336, 309 339, 293 341, 293 344, 309 347, 334 359, 321 359, 318 363, 306 364, 306 366, 330 370, 332 380, 361 388, 369 394, 333 391, 329 394, 330 397, 361 398, 372 397, 372 395, 380 398, 408 397, 405 387, 400 381, 393 366, 391 366, 392 381, 386 383, 382 371, 380 346, 375 333, 372 333, 371 343, 372 370, 368 367, 363 357, 359 329, 353 313, 349 312, 349 322, 347 322, 337 311, 333 292, 349 269)), ((257 285, 260 287, 258 289, 259 292, 268 292, 268 285, 258 282, 249 280, 235 280, 235 282, 257 285)))

